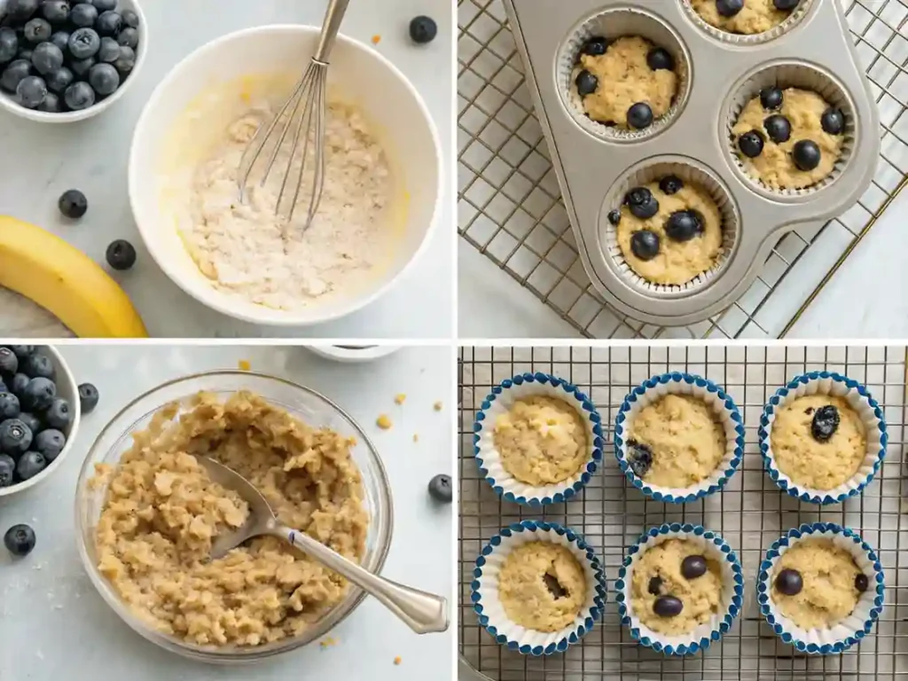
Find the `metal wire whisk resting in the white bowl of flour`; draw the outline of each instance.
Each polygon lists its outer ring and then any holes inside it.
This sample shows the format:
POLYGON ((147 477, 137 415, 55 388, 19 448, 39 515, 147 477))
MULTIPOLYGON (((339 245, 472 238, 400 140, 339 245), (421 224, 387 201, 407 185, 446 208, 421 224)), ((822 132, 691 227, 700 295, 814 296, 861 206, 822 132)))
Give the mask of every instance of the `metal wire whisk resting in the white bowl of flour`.
POLYGON ((278 200, 274 206, 274 214, 278 215, 281 212, 284 195, 287 192, 290 178, 293 174, 293 162, 297 158, 297 150, 302 140, 302 163, 296 189, 293 192, 293 201, 287 214, 287 222, 293 219, 293 212, 296 211, 296 206, 300 201, 304 171, 313 160, 312 157, 314 157, 315 167, 312 173, 309 211, 303 229, 309 227, 312 218, 319 210, 319 203, 321 202, 321 191, 325 179, 325 116, 327 115, 325 90, 328 80, 328 66, 330 64, 329 57, 331 56, 331 49, 337 41, 343 16, 347 12, 347 5, 350 5, 350 0, 329 1, 325 20, 321 25, 319 45, 312 56, 309 67, 302 75, 299 83, 296 84, 291 96, 281 107, 281 110, 271 120, 271 123, 262 125, 255 133, 255 136, 252 137, 252 141, 246 147, 240 162, 239 184, 240 200, 242 202, 245 199, 252 170, 255 168, 255 164, 258 163, 259 158, 262 157, 265 149, 273 143, 268 164, 265 166, 265 172, 262 175, 262 186, 265 185, 271 174, 281 148, 283 148, 287 140, 287 134, 293 129, 291 153, 281 181, 281 192, 278 194, 278 200), (275 141, 274 137, 278 134, 279 136, 275 141))

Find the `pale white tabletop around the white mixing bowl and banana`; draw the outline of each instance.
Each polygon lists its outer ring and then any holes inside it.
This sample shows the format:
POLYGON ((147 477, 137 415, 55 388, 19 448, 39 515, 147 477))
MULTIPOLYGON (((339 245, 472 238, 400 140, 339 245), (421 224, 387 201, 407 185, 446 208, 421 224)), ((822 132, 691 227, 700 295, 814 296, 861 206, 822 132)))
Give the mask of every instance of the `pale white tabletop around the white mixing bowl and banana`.
MULTIPOLYGON (((139 252, 132 271, 117 273, 149 332, 163 337, 282 335, 307 338, 448 338, 452 332, 452 209, 443 211, 421 262, 380 301, 350 317, 318 327, 269 330, 233 321, 184 294, 144 251, 133 224, 126 192, 126 160, 133 126, 143 103, 164 74, 183 56, 213 38, 252 25, 320 24, 326 0, 148 0, 143 9, 151 31, 150 52, 139 81, 111 111, 85 123, 40 125, 0 114, 0 213, 48 229, 104 262, 107 244, 128 239, 139 252), (178 23, 177 23, 178 22, 178 23), (9 170, 12 168, 12 171, 9 170), (78 188, 90 212, 75 225, 64 224, 56 202, 78 188)), ((343 33, 369 43, 407 74, 419 89, 439 128, 445 167, 451 165, 452 11, 450 0, 353 2, 343 33), (426 46, 410 42, 415 15, 431 15, 439 37, 426 46)), ((352 84, 355 87, 355 84, 352 84)), ((447 183, 449 184, 449 183, 447 183)), ((446 186, 447 186, 446 184, 446 186)), ((451 204, 450 192, 443 197, 451 204)), ((0 291, 0 333, 46 336, 61 332, 31 304, 13 304, 0 291)))

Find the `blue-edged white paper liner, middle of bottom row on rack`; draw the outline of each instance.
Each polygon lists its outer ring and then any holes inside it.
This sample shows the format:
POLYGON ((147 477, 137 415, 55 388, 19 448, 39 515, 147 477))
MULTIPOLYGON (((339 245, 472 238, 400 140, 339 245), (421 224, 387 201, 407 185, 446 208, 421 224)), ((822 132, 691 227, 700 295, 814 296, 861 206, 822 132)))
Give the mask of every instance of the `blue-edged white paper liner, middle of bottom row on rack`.
POLYGON ((631 637, 640 645, 651 647, 665 655, 694 655, 706 650, 714 641, 718 641, 732 627, 732 623, 741 612, 744 603, 744 574, 735 551, 725 543, 718 533, 700 525, 681 525, 673 523, 650 528, 640 536, 637 544, 627 551, 627 556, 615 582, 617 591, 618 614, 621 624, 630 630, 631 637), (637 560, 646 550, 658 546, 668 539, 677 538, 696 544, 703 549, 706 558, 716 560, 722 567, 722 607, 705 624, 692 631, 666 636, 653 631, 644 625, 634 612, 631 599, 631 585, 634 581, 634 568, 637 560))

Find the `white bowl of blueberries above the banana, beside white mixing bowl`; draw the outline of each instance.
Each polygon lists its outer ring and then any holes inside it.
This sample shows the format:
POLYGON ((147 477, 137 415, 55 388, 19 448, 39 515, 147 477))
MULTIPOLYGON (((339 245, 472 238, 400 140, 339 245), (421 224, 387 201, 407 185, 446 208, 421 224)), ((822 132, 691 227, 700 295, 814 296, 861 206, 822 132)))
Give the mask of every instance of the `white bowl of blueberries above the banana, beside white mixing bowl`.
POLYGON ((136 0, 0 0, 0 106, 42 123, 100 114, 143 64, 136 0))

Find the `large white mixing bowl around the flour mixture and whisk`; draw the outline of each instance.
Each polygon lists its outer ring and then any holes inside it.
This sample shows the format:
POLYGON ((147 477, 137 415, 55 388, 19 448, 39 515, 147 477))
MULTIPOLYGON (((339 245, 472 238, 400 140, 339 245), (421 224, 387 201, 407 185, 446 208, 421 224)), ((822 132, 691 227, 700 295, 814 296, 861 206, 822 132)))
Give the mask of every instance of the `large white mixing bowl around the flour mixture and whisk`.
MULTIPOLYGON (((191 105, 194 115, 216 116, 217 102, 210 106, 209 114, 204 114, 198 103, 209 106, 211 103, 205 104, 206 95, 219 84, 268 74, 301 75, 318 39, 319 29, 312 26, 271 25, 225 35, 206 44, 177 64, 158 85, 135 128, 129 160, 129 195, 148 251, 183 291, 212 310, 242 321, 305 326, 360 310, 410 269, 424 250, 439 213, 443 177, 439 134, 426 104, 385 57, 340 35, 331 53, 329 86, 338 84, 336 89, 344 102, 359 108, 378 133, 400 195, 401 205, 395 205, 392 212, 406 213, 392 262, 370 286, 349 297, 316 302, 301 311, 281 311, 218 291, 192 261, 178 232, 177 216, 167 210, 167 202, 162 200, 168 177, 163 149, 173 134, 174 124, 183 120, 191 105)), ((179 171, 182 177, 187 170, 185 165, 170 172, 179 171)))

